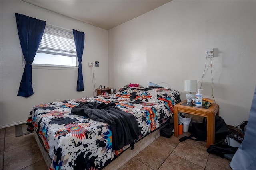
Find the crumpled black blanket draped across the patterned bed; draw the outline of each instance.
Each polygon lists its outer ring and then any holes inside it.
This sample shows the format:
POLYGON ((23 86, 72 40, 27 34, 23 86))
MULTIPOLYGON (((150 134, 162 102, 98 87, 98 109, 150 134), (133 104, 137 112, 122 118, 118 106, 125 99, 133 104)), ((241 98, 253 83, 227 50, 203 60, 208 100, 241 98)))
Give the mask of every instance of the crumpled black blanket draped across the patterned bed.
POLYGON ((115 103, 80 102, 71 113, 90 117, 95 121, 108 123, 112 131, 112 149, 119 150, 139 139, 140 129, 134 115, 114 107, 115 103))

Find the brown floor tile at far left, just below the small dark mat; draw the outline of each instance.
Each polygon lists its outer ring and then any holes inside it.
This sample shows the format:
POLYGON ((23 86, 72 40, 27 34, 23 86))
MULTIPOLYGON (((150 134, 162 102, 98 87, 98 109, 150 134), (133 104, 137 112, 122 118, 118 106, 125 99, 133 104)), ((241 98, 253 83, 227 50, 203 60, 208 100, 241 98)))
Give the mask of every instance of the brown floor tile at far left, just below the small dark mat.
POLYGON ((32 143, 36 143, 35 137, 33 133, 23 135, 20 137, 15 137, 15 135, 8 136, 5 138, 5 152, 8 150, 12 150, 24 145, 31 145, 32 143))

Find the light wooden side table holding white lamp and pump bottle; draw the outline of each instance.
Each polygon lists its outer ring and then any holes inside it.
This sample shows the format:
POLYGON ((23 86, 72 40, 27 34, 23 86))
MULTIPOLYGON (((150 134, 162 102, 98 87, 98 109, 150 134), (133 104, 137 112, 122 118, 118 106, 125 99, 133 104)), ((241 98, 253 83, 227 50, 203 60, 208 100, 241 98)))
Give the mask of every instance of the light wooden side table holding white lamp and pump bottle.
POLYGON ((187 100, 174 105, 174 136, 178 137, 178 112, 207 118, 207 148, 215 142, 215 115, 219 115, 218 104, 211 104, 208 109, 187 105, 187 100))

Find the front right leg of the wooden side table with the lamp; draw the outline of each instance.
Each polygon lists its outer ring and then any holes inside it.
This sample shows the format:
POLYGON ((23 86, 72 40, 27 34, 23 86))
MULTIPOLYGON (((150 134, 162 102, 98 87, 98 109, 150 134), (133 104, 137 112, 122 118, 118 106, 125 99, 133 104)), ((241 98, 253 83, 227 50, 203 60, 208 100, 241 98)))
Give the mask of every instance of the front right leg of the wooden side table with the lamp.
POLYGON ((215 142, 215 113, 207 115, 207 148, 215 142))

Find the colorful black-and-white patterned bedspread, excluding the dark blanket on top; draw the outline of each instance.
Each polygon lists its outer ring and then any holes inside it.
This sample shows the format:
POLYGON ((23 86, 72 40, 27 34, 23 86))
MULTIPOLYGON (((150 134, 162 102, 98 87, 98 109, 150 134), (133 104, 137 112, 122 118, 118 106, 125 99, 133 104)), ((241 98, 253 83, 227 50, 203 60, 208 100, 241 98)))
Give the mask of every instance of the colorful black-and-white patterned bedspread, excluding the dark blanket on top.
POLYGON ((175 90, 124 87, 115 94, 34 106, 28 122, 32 121, 52 159, 50 169, 96 170, 104 168, 130 145, 112 150, 108 123, 74 115, 72 107, 79 102, 115 102, 115 107, 136 117, 141 139, 165 123, 172 116, 174 105, 180 101, 180 95, 175 90))

